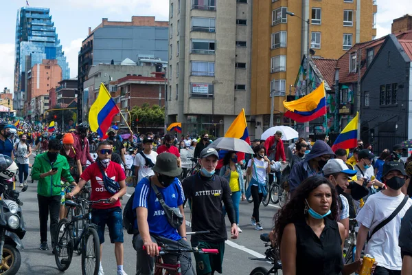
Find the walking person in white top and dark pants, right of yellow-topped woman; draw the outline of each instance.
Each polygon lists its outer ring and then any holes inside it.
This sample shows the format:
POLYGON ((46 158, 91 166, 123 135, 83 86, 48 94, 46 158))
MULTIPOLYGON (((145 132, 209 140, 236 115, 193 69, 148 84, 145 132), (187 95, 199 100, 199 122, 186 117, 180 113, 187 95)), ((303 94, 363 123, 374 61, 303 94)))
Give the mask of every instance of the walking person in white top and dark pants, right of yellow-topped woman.
POLYGON ((253 198, 253 214, 251 224, 255 230, 263 230, 259 217, 259 207, 264 196, 264 186, 266 185, 266 173, 271 172, 271 161, 266 156, 266 148, 262 145, 253 148, 255 157, 249 159, 247 164, 247 175, 251 175, 251 181, 248 186, 248 195, 253 198))

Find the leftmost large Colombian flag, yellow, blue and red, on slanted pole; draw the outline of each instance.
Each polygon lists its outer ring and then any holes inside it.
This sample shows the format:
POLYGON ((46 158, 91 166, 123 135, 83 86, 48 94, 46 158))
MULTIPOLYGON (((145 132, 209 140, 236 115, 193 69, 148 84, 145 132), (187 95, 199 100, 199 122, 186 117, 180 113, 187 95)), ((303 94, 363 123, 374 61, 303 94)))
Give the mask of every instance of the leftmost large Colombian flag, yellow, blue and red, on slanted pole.
POLYGON ((91 105, 89 111, 89 124, 93 132, 97 132, 102 138, 106 138, 106 132, 111 126, 113 117, 119 113, 115 100, 111 98, 110 94, 103 83, 100 84, 98 98, 91 105))

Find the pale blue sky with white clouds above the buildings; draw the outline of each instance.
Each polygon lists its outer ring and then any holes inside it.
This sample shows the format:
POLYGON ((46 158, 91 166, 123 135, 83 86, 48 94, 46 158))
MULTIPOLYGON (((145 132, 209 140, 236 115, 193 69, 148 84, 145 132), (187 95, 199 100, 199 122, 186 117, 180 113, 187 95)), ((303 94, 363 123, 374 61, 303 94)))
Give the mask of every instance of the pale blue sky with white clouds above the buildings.
MULTIPOLYGON (((70 76, 78 72, 78 51, 87 38, 89 27, 93 30, 102 22, 130 21, 133 15, 155 16, 167 21, 168 0, 27 0, 30 6, 50 8, 52 21, 69 62, 70 76)), ((228 0, 225 0, 228 1, 228 0)), ((259 1, 259 0, 254 0, 259 1)), ((369 0, 371 1, 371 0, 369 0)), ((377 0, 377 38, 391 32, 393 19, 412 13, 411 0, 377 0)), ((25 0, 0 0, 0 91, 8 87, 13 91, 14 39, 17 10, 26 5, 25 0)))

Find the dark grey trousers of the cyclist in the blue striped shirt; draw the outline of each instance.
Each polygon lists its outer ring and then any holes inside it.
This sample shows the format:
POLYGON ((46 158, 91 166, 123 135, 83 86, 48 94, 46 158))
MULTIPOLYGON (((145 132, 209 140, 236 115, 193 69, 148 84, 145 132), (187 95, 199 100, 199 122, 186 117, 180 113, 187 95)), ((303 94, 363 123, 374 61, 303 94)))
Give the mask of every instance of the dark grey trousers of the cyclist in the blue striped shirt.
MULTIPOLYGON (((189 248, 190 245, 185 241, 185 239, 180 239, 179 241, 173 241, 171 239, 163 238, 162 236, 150 235, 152 242, 162 243, 163 245, 168 245, 170 249, 178 248, 189 248)), ((143 248, 143 240, 141 239, 140 234, 135 234, 133 236, 133 248, 137 252, 137 262, 136 262, 136 274, 137 275, 151 275, 155 269, 155 258, 149 256, 143 248)), ((176 264, 177 256, 174 254, 164 254, 161 255, 163 263, 176 264)), ((194 267, 192 265, 192 256, 189 253, 183 253, 180 258, 182 274, 185 275, 194 275, 194 267)))

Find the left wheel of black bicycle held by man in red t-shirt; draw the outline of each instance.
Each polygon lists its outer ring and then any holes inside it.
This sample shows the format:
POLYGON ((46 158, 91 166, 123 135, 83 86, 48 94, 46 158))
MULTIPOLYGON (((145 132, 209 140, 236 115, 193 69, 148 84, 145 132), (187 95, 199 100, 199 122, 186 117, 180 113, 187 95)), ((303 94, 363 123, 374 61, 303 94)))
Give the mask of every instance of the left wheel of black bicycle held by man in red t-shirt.
POLYGON ((58 270, 65 271, 69 268, 73 257, 73 239, 69 234, 69 220, 61 219, 58 223, 56 240, 54 241, 54 260, 58 270), (62 229, 63 228, 63 229, 62 229), (62 232, 60 232, 62 231, 62 232))

